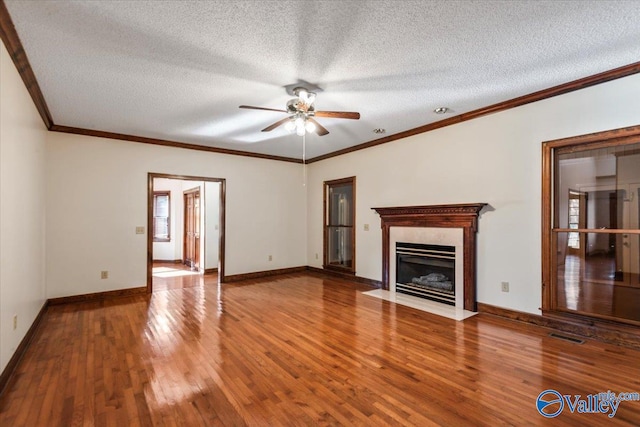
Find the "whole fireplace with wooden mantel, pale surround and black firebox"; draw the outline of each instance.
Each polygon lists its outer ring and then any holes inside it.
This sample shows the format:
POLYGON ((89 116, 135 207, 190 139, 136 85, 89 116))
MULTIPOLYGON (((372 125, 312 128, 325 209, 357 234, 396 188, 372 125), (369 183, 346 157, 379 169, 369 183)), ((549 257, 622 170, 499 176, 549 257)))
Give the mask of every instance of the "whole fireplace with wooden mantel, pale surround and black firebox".
MULTIPOLYGON (((372 208, 381 218, 382 289, 414 294, 419 291, 422 294, 430 294, 430 299, 433 299, 432 288, 443 288, 440 294, 451 293, 451 295, 446 302, 442 301, 444 299, 442 296, 439 296, 440 302, 454 305, 456 309, 475 312, 477 306, 476 232, 480 211, 486 205, 486 203, 465 203, 372 208), (398 254, 393 256, 398 243, 404 248, 403 252, 410 253, 400 254, 402 255, 400 257, 398 254), (454 247, 454 259, 433 256, 433 246, 454 247), (431 255, 427 256, 431 260, 418 262, 416 252, 422 250, 431 252, 431 255), (404 257, 405 255, 407 258, 404 257), (435 262, 436 258, 439 262, 435 262), (414 265, 402 266, 401 264, 403 262, 406 264, 407 260, 410 261, 408 264, 414 265), (399 264, 400 268, 398 268, 399 264), (404 270, 407 268, 413 269, 414 272, 405 273, 404 270), (416 269, 423 270, 420 272, 416 269), (454 273, 449 275, 451 271, 454 273), (411 277, 407 278, 405 274, 411 277), (434 275, 429 276, 430 274, 434 275), (445 280, 441 275, 449 280, 445 280), (414 278, 418 283, 414 282, 414 278), (439 283, 436 284, 436 282, 439 283), (398 283, 400 283, 400 290, 398 290, 398 283), (425 290, 425 288, 428 289, 425 290)), ((424 295, 420 296, 424 297, 424 295)))

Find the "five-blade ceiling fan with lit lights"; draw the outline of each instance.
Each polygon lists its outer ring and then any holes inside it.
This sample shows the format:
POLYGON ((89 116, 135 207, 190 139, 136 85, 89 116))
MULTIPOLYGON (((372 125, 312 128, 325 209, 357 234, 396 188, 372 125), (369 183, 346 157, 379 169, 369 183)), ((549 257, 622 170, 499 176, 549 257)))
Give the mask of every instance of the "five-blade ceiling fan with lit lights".
POLYGON ((267 126, 262 129, 262 132, 270 132, 278 126, 285 125, 285 128, 289 132, 295 131, 298 135, 302 136, 305 132, 315 132, 320 136, 327 135, 329 131, 318 123, 314 117, 327 117, 332 119, 352 119, 358 120, 360 113, 349 111, 316 111, 313 105, 316 94, 308 91, 306 88, 299 86, 293 89, 295 98, 290 99, 287 102, 286 110, 278 110, 275 108, 265 107, 253 107, 251 105, 241 105, 240 108, 246 108, 250 110, 265 110, 265 111, 277 111, 280 113, 287 113, 288 117, 267 126))

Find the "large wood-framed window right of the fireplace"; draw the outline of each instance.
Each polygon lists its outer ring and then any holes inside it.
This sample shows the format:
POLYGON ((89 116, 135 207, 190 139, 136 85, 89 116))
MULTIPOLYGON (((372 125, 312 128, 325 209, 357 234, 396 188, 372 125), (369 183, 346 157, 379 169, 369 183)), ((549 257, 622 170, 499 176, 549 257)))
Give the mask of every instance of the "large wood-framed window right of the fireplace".
POLYGON ((640 129, 543 145, 543 310, 640 324, 640 129))

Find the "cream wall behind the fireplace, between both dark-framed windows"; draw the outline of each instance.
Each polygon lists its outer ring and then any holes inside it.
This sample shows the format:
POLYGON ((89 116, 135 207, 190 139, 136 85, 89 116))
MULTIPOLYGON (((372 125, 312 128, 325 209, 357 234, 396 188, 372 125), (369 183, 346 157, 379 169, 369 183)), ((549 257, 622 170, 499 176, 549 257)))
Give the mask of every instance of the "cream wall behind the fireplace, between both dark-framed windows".
POLYGON ((356 274, 376 280, 382 242, 372 207, 487 202, 493 210, 479 221, 478 301, 539 314, 541 142, 637 125, 638 111, 634 75, 312 163, 309 263, 322 264, 323 181, 356 176, 356 274), (509 293, 501 292, 502 281, 510 282, 509 293))

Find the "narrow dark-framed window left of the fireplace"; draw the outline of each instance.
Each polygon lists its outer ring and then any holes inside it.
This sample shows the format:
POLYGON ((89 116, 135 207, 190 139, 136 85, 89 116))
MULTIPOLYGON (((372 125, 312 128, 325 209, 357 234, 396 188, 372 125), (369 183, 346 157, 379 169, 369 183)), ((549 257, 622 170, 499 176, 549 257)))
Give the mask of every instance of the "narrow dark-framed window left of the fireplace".
POLYGON ((324 183, 324 268, 355 274, 355 183, 344 178, 324 183))

